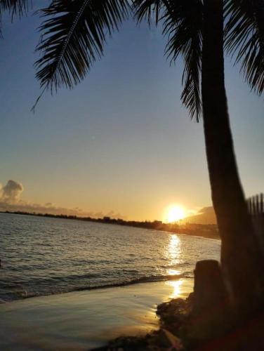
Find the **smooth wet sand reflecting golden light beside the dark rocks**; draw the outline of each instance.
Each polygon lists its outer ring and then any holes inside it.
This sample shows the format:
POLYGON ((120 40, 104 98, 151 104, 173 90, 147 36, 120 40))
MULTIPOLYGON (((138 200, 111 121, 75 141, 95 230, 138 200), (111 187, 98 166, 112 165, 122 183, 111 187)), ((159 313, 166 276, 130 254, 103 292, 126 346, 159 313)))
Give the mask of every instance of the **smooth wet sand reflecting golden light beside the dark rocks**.
POLYGON ((1 350, 90 350, 157 329, 156 307, 185 298, 192 279, 28 298, 0 305, 1 350))

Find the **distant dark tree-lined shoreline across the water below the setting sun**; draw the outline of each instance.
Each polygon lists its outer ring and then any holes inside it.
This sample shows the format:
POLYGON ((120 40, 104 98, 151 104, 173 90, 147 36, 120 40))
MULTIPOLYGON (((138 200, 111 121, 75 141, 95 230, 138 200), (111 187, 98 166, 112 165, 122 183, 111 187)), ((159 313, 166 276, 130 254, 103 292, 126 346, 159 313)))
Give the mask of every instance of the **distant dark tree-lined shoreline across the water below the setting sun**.
POLYGON ((179 225, 177 223, 163 223, 161 220, 153 221, 136 221, 136 220, 123 220, 121 218, 115 219, 110 217, 103 218, 91 218, 91 217, 78 217, 78 216, 67 216, 67 215, 53 215, 51 213, 30 213, 23 211, 0 211, 0 213, 16 214, 22 216, 37 216, 37 217, 48 217, 48 218, 63 218, 68 220, 83 220, 95 223, 106 223, 113 225, 124 225, 128 227, 138 227, 150 230, 161 230, 164 232, 173 232, 177 234, 187 234, 198 237, 205 237, 209 239, 220 239, 217 225, 203 225, 194 223, 185 223, 179 225))

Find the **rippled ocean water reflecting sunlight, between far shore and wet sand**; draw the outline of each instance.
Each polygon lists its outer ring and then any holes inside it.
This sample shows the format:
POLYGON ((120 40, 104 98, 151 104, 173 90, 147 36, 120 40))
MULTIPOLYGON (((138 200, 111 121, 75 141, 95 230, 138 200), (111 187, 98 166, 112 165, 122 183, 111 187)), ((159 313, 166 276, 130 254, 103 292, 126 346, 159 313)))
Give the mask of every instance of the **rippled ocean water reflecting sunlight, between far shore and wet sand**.
POLYGON ((0 300, 192 279, 219 255, 217 239, 0 213, 0 300))

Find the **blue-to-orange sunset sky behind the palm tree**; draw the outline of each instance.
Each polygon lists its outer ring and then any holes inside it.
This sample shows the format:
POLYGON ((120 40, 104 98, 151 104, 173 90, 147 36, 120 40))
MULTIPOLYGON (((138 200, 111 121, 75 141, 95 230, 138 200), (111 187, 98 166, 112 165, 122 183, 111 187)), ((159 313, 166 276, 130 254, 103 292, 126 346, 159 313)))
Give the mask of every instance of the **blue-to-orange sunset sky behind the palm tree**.
MULTIPOLYGON (((46 93, 33 114, 39 23, 32 15, 3 21, 0 206, 128 220, 163 220, 171 204, 190 213, 211 206, 202 122, 191 121, 180 102, 183 65, 165 60, 160 29, 124 22, 86 79, 46 93)), ((251 196, 264 183, 263 98, 230 58, 225 83, 239 172, 251 196)))

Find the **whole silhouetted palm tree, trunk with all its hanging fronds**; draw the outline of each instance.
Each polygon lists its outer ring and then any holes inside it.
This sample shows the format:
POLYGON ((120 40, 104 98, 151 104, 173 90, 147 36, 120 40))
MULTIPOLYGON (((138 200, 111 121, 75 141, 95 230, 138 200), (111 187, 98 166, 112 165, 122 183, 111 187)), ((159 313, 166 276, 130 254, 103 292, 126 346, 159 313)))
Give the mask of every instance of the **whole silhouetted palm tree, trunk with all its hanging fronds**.
MULTIPOLYGON (((7 5, 20 0, 4 0, 7 5)), ((27 1, 24 1, 27 3, 27 1)), ((1 4, 1 3, 0 3, 1 4)), ((1 7, 1 6, 0 6, 1 7)), ((138 22, 163 23, 166 55, 185 64, 181 99, 190 117, 204 121, 213 207, 222 239, 221 263, 239 305, 263 296, 263 257, 253 234, 239 180, 224 82, 225 48, 259 95, 264 88, 263 0, 53 0, 37 51, 42 93, 84 79, 114 29, 133 11, 138 22), (224 8, 223 8, 224 7, 224 8)), ((38 101, 38 100, 37 100, 38 101)))

